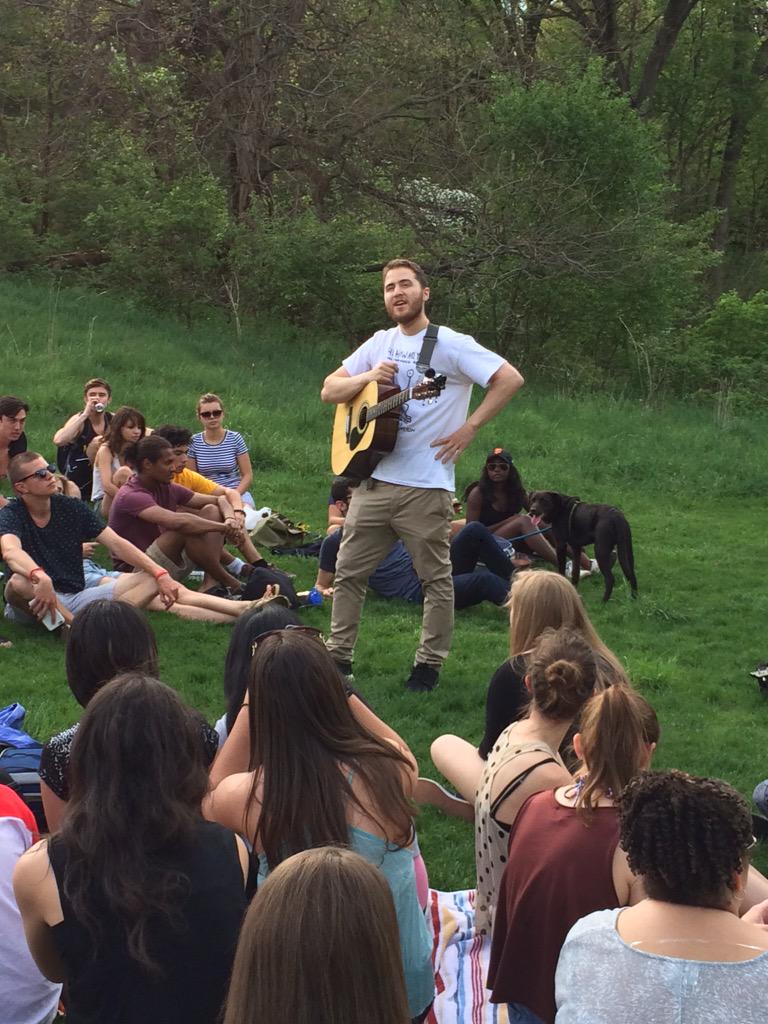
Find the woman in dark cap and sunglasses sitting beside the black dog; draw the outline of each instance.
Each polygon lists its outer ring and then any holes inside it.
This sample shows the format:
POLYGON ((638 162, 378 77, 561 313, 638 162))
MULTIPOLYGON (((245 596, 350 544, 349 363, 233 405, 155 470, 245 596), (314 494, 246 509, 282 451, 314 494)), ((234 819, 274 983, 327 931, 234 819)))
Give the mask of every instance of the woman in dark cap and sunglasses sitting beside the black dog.
POLYGON ((464 492, 467 522, 481 522, 496 537, 515 542, 515 550, 532 551, 545 561, 557 565, 554 548, 534 525, 528 508, 528 493, 523 486, 512 456, 505 449, 488 452, 480 478, 470 483, 464 492), (534 535, 534 536, 527 536, 534 535))

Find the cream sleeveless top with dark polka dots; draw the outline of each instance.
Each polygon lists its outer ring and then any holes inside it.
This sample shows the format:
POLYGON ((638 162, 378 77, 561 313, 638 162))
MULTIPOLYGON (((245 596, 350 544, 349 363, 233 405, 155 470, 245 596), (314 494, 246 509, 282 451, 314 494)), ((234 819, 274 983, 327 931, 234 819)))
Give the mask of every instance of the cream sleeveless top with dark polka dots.
POLYGON ((522 785, 539 765, 554 763, 565 768, 557 751, 553 751, 546 743, 515 742, 514 730, 517 724, 517 722, 513 722, 508 725, 499 736, 496 745, 488 754, 475 794, 475 868, 477 870, 475 928, 480 935, 490 935, 497 894, 507 863, 510 830, 509 825, 497 822, 495 817, 497 808, 518 786, 522 785), (490 792, 496 773, 508 765, 510 761, 514 761, 520 754, 529 754, 534 751, 541 752, 541 759, 511 779, 492 805, 490 792))

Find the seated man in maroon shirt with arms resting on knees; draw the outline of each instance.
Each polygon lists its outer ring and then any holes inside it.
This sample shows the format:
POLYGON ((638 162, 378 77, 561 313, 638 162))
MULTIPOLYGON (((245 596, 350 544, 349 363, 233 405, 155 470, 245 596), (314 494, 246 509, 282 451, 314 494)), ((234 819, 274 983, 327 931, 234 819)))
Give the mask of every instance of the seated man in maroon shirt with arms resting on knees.
MULTIPOLYGON (((164 437, 142 437, 127 455, 133 455, 136 474, 118 492, 110 526, 174 580, 183 580, 200 566, 222 587, 240 590, 220 562, 224 539, 237 541, 242 530, 226 497, 196 494, 172 483, 173 449, 164 437)), ((115 567, 125 568, 117 560, 115 567)))

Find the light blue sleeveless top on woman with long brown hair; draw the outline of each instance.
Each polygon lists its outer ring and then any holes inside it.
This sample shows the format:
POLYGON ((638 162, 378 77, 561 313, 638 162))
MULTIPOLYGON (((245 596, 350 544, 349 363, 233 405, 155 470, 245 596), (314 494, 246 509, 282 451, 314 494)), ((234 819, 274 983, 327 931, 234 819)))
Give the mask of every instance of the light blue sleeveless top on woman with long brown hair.
MULTIPOLYGON (((432 939, 419 904, 411 847, 394 847, 380 836, 349 826, 349 849, 378 867, 392 893, 400 933, 400 955, 412 1017, 422 1014, 434 999, 432 939)), ((269 873, 266 857, 259 857, 259 885, 269 873)), ((353 952, 353 951, 352 951, 353 952)))

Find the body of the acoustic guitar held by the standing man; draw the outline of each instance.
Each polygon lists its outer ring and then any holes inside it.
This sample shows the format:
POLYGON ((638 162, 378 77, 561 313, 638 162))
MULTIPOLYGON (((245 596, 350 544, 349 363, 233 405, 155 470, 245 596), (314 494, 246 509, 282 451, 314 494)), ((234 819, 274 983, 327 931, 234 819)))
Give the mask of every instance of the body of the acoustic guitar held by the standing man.
POLYGON ((367 421, 366 414, 372 406, 397 393, 396 387, 372 381, 351 401, 336 407, 331 438, 331 468, 336 476, 366 480, 381 459, 392 451, 397 440, 399 407, 371 422, 367 421))

